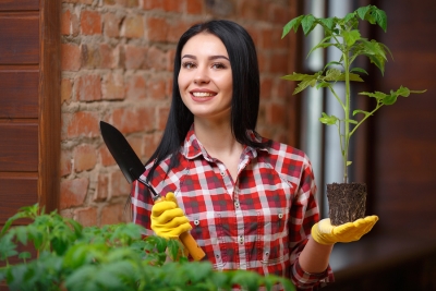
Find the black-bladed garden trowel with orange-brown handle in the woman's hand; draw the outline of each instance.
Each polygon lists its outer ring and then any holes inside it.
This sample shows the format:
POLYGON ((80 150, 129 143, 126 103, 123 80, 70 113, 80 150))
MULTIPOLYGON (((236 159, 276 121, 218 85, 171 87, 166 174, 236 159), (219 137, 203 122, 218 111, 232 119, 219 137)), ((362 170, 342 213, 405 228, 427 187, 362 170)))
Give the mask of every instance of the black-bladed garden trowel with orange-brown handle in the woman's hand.
MULTIPOLYGON (((100 131, 106 146, 108 147, 113 159, 117 161, 128 182, 131 184, 134 181, 138 181, 140 183, 146 185, 152 192, 153 201, 155 203, 165 201, 165 197, 157 194, 152 185, 146 180, 141 178, 145 171, 145 167, 133 148, 130 146, 129 142, 125 140, 124 135, 122 135, 122 133, 114 126, 106 123, 105 121, 100 121, 100 131)), ((205 253, 197 245, 190 232, 183 232, 180 234, 179 239, 195 260, 201 260, 205 256, 205 253)))

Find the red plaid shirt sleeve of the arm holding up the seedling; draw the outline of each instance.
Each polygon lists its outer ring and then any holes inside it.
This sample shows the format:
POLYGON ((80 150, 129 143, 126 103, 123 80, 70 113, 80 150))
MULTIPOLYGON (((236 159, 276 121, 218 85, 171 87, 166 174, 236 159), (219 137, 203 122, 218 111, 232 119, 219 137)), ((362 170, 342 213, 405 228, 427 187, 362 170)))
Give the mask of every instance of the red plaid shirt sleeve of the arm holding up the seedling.
POLYGON ((302 165, 300 185, 291 207, 291 275, 290 279, 298 290, 317 290, 335 281, 330 266, 324 272, 310 274, 299 263, 299 256, 307 243, 311 229, 319 220, 318 206, 315 201, 316 184, 311 163, 307 159, 302 165))

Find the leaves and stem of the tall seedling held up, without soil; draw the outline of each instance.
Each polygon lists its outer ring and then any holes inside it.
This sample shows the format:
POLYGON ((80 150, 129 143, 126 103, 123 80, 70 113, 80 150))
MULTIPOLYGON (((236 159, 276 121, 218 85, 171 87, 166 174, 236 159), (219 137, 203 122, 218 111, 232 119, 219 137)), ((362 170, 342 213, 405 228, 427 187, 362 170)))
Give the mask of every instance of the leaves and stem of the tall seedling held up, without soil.
MULTIPOLYGON (((377 24, 385 31, 387 27, 387 16, 383 10, 377 9, 375 5, 362 7, 352 13, 348 13, 344 17, 327 17, 318 19, 312 14, 300 15, 291 20, 283 27, 282 38, 289 34, 290 31, 296 33, 298 28, 302 26, 303 33, 307 36, 317 25, 320 25, 324 29, 325 37, 314 46, 308 54, 319 48, 337 48, 341 52, 341 57, 338 61, 328 62, 323 70, 319 72, 308 75, 293 73, 291 75, 282 76, 283 80, 298 81, 300 82, 293 92, 298 94, 308 86, 319 88, 328 88, 344 112, 343 119, 336 116, 329 116, 325 112, 322 113, 319 121, 327 125, 336 125, 338 128, 340 149, 342 154, 343 163, 343 182, 348 182, 348 166, 351 165, 349 160, 349 145, 350 137, 355 133, 358 128, 375 111, 380 109, 385 105, 393 105, 399 96, 408 97, 411 93, 424 93, 425 90, 410 90, 407 87, 400 86, 397 90, 390 90, 389 94, 382 92, 367 93, 362 92, 360 95, 366 95, 373 97, 376 100, 376 105, 373 110, 365 111, 356 109, 352 112, 352 116, 361 114, 361 119, 354 119, 351 117, 351 98, 350 98, 350 83, 351 82, 363 82, 360 74, 367 74, 362 68, 353 66, 353 62, 358 57, 367 57, 371 63, 374 63, 382 72, 385 72, 385 63, 387 61, 387 54, 391 56, 390 50, 384 45, 374 39, 368 40, 361 36, 359 31, 360 21, 367 21, 371 24, 377 24), (344 101, 336 93, 334 85, 336 82, 346 83, 346 96, 344 101)), ((392 57, 392 56, 391 56, 392 57)))

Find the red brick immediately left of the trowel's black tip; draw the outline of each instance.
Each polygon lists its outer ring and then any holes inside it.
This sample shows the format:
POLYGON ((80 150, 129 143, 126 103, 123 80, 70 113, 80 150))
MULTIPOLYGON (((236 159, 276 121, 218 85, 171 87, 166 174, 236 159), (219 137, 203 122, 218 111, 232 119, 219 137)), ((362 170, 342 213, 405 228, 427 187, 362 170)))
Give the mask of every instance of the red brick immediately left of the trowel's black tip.
POLYGON ((96 112, 75 112, 68 120, 66 136, 69 138, 100 136, 98 122, 99 120, 96 112))

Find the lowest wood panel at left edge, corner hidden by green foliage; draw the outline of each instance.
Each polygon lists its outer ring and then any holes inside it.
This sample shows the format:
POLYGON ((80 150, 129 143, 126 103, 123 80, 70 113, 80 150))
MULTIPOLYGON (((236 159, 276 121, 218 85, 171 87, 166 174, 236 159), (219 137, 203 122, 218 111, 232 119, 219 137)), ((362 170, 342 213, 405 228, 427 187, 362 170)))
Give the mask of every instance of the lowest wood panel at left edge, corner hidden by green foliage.
POLYGON ((0 177, 0 225, 23 206, 38 202, 37 177, 0 177))

